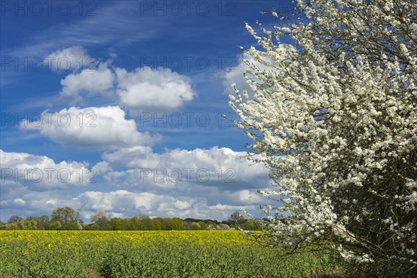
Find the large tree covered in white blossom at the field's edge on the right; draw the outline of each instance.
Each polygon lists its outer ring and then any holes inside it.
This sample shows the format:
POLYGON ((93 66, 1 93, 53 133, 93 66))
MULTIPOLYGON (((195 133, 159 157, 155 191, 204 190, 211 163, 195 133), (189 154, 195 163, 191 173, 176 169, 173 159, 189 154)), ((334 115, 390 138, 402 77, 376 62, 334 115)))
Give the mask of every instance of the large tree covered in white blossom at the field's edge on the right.
POLYGON ((417 275, 417 3, 298 0, 244 49, 237 126, 272 172, 265 240, 417 275), (288 40, 291 38, 291 40, 288 40), (293 41, 286 44, 282 41, 293 41))

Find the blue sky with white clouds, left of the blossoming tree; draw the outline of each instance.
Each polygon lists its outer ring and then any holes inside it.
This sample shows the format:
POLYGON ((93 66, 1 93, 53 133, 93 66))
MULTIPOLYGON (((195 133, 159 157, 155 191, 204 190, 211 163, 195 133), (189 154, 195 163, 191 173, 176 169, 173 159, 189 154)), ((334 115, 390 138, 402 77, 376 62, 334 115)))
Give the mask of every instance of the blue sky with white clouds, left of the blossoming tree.
POLYGON ((240 159, 250 140, 219 115, 234 117, 230 84, 245 88, 244 22, 271 26, 259 12, 290 3, 48 5, 1 2, 1 220, 67 205, 87 222, 262 216, 268 170, 240 159))

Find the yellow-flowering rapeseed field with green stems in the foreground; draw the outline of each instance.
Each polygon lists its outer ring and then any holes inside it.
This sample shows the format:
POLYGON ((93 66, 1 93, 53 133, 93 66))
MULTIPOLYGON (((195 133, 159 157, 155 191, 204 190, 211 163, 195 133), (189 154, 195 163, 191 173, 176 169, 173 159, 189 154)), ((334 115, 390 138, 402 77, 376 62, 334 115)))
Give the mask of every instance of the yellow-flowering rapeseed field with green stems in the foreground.
POLYGON ((304 277, 324 254, 281 257, 239 231, 0 231, 0 277, 304 277))

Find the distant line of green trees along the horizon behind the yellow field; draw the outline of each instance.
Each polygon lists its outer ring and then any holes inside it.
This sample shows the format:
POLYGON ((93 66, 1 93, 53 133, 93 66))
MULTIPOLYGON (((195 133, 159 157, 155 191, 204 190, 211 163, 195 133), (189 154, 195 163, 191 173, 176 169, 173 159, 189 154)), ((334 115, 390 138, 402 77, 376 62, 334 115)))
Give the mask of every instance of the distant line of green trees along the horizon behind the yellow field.
POLYGON ((26 219, 13 215, 5 222, 0 222, 0 229, 10 230, 86 230, 86 231, 168 231, 168 230, 260 230, 259 220, 247 220, 237 211, 228 220, 201 220, 194 218, 149 218, 138 214, 132 218, 111 218, 104 211, 97 211, 90 216, 91 224, 81 220, 81 211, 70 206, 56 208, 51 216, 30 216, 26 219))

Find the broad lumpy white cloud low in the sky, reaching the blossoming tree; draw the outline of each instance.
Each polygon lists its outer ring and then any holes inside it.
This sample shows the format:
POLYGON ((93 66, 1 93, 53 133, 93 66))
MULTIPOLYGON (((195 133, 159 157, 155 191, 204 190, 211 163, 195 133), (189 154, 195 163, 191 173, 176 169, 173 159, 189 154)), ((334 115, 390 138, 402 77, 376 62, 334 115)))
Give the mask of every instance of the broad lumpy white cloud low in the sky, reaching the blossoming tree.
MULTIPOLYGON (((201 181, 206 179, 206 173, 210 176, 210 181, 220 183, 245 183, 250 186, 257 186, 262 177, 268 179, 268 169, 261 163, 250 165, 251 163, 241 156, 246 152, 234 152, 223 147, 212 147, 211 149, 168 149, 162 154, 156 154, 150 147, 134 146, 121 148, 115 152, 105 152, 102 158, 111 165, 128 167, 124 172, 109 173, 106 177, 118 179, 120 177, 132 176, 133 180, 139 181, 152 179, 155 174, 166 172, 171 180, 177 180, 179 174, 184 181, 190 177, 189 181, 201 181), (151 172, 145 172, 149 170, 151 172), (172 173, 172 177, 170 176, 172 173), (200 177, 197 177, 200 173, 200 177), (145 177, 144 177, 145 174, 145 177), (148 176, 149 177, 146 177, 148 176), (137 176, 137 177, 136 177, 137 176), (204 176, 204 177, 203 177, 204 176)), ((157 179, 163 181, 163 179, 157 179)), ((157 184, 157 183, 156 183, 157 184)))

